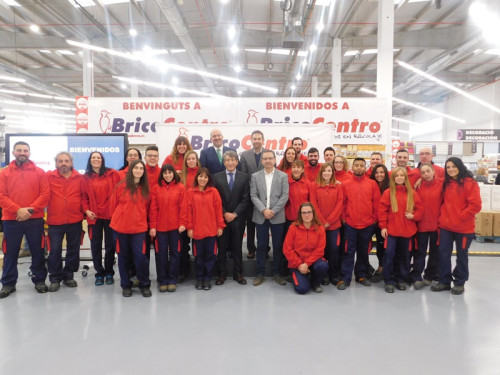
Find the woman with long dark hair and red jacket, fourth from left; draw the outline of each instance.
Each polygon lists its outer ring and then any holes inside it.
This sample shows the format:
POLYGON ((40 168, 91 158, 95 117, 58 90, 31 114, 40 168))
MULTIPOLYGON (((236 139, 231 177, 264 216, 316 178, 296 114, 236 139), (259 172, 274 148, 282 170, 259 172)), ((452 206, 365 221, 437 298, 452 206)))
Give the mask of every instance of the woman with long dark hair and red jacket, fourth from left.
POLYGON ((133 261, 143 297, 151 297, 149 259, 146 256, 148 230, 149 183, 146 165, 134 160, 125 179, 116 185, 111 196, 111 228, 116 233, 116 252, 120 284, 124 297, 132 296, 130 266, 133 261))

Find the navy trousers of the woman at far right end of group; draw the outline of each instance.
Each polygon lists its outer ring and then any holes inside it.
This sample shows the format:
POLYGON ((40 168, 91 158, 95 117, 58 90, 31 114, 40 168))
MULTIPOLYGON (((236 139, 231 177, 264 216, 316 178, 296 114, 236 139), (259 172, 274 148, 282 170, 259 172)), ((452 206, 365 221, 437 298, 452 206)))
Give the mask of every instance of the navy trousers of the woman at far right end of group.
POLYGON ((441 284, 464 285, 469 280, 469 246, 474 233, 451 232, 439 228, 439 282, 441 284), (457 264, 451 272, 453 242, 457 250, 457 264))

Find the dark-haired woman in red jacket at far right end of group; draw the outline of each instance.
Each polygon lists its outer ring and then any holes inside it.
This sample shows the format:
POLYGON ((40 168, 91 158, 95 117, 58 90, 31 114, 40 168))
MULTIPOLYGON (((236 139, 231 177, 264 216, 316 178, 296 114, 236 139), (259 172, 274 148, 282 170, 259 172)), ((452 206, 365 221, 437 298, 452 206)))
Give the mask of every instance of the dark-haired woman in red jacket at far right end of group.
POLYGON ((481 210, 479 185, 462 160, 451 157, 445 163, 443 204, 439 215, 439 284, 431 290, 462 294, 469 279, 469 246, 474 238, 475 215, 481 210), (451 272, 453 242, 457 264, 451 272), (453 288, 451 282, 453 281, 453 288))

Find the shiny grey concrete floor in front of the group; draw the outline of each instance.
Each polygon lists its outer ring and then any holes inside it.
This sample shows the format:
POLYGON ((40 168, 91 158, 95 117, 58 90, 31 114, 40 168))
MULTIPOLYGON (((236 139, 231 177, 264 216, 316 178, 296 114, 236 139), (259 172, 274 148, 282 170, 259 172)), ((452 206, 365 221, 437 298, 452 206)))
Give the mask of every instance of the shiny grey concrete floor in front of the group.
POLYGON ((299 296, 268 278, 162 294, 153 282, 149 299, 95 287, 92 272, 39 295, 27 260, 0 301, 0 374, 500 373, 500 257, 470 257, 463 296, 382 283, 299 296))

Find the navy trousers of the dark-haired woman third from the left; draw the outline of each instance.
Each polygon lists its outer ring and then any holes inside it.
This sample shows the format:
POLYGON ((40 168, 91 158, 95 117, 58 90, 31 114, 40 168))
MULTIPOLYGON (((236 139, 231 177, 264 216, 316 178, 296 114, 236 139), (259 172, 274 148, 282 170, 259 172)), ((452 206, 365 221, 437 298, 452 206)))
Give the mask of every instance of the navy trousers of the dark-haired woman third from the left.
POLYGON ((95 224, 89 225, 90 250, 96 277, 113 276, 115 271, 115 244, 113 229, 109 226, 111 220, 97 219, 95 224), (104 267, 102 264, 102 237, 104 232, 104 267))

